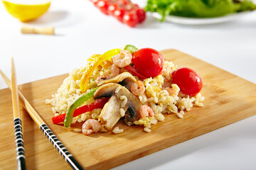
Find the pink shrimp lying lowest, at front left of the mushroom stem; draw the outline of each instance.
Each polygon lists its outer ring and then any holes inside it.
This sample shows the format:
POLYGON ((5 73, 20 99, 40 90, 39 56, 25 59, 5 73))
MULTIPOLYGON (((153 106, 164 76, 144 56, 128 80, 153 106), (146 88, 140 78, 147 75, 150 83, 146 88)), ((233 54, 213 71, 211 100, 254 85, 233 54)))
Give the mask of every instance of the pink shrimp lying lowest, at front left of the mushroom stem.
POLYGON ((102 128, 102 125, 99 121, 95 119, 88 119, 82 125, 82 133, 85 135, 90 135, 92 132, 98 132, 102 128))

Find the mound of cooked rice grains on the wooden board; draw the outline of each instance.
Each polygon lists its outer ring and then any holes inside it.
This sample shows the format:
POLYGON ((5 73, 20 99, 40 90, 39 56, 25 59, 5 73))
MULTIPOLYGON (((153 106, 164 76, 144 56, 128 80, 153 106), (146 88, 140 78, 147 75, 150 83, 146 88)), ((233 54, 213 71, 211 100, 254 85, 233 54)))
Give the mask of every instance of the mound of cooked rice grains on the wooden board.
MULTIPOLYGON (((88 63, 90 64, 90 63, 88 63)), ((94 72, 90 81, 88 83, 89 89, 92 89, 97 86, 97 77, 100 77, 104 74, 110 74, 110 69, 112 64, 105 63, 108 67, 102 67, 99 65, 94 72)), ((182 94, 177 84, 172 84, 171 82, 171 73, 174 72, 178 67, 169 61, 164 61, 163 73, 152 78, 141 80, 144 84, 145 91, 144 94, 137 96, 139 101, 143 105, 151 107, 154 111, 154 117, 147 116, 146 118, 139 118, 132 123, 127 123, 127 125, 141 125, 144 126, 145 132, 151 132, 151 125, 158 123, 159 121, 164 121, 166 114, 176 114, 177 118, 183 118, 186 116, 186 112, 190 111, 193 106, 203 106, 204 97, 201 93, 196 94, 196 96, 189 97, 182 94)), ((68 108, 73 104, 73 102, 79 98, 82 93, 80 90, 80 80, 86 69, 85 67, 80 67, 78 69, 73 69, 69 76, 63 81, 63 84, 60 86, 58 91, 52 95, 52 98, 46 99, 46 104, 52 106, 52 111, 54 115, 60 115, 67 113, 68 108)), ((126 69, 122 68, 121 72, 128 72, 126 69)), ((139 80, 139 77, 134 76, 135 79, 139 80)), ((119 89, 116 89, 115 92, 118 92, 119 89)), ((127 103, 127 97, 121 96, 122 106, 125 106, 127 103)), ((85 101, 82 105, 92 103, 94 101, 91 98, 88 101, 85 101)), ((124 116, 124 110, 120 109, 120 115, 124 116)), ((82 113, 77 117, 73 118, 73 123, 82 123, 88 119, 98 120, 102 109, 97 108, 93 111, 82 113)), ((119 130, 119 128, 113 128, 112 132, 120 133, 124 130, 119 130)), ((101 132, 106 132, 106 128, 102 128, 101 132)))

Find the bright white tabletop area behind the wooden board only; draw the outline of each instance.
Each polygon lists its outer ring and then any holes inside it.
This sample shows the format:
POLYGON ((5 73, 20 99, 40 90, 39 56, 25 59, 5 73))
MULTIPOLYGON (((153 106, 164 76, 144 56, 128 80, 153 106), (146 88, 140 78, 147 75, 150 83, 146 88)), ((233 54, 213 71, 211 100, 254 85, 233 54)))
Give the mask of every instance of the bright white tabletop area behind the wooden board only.
MULTIPOLYGON (((145 6, 146 1, 134 3, 145 6)), ((18 83, 23 84, 70 72, 83 65, 83 61, 94 53, 133 44, 157 50, 181 50, 256 81, 252 74, 256 63, 255 12, 239 16, 234 21, 202 26, 161 23, 151 13, 147 14, 143 23, 130 28, 101 13, 91 1, 53 0, 41 18, 21 23, 6 12, 1 3, 0 67, 8 73, 6 64, 9 64, 9 57, 14 57, 17 71, 21 73, 18 74, 18 83), (24 25, 52 26, 56 35, 23 35, 20 30, 24 25), (243 69, 241 64, 247 67, 243 69)), ((0 88, 4 87, 1 81, 0 88)))

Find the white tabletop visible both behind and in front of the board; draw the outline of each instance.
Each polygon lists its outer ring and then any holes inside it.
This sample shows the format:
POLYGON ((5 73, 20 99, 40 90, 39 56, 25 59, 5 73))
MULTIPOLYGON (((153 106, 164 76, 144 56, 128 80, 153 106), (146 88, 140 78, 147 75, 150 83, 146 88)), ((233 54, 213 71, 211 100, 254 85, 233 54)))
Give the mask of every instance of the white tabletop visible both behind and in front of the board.
MULTIPOLYGON (((21 35, 22 25, 0 4, 0 69, 10 77, 14 57, 18 84, 68 73, 94 53, 127 44, 181 50, 256 83, 256 12, 207 26, 159 23, 148 16, 129 28, 90 1, 54 0, 48 13, 26 25, 54 26, 57 35, 21 35)), ((6 87, 0 79, 0 89, 6 87)), ((256 116, 114 169, 256 169, 256 116)))

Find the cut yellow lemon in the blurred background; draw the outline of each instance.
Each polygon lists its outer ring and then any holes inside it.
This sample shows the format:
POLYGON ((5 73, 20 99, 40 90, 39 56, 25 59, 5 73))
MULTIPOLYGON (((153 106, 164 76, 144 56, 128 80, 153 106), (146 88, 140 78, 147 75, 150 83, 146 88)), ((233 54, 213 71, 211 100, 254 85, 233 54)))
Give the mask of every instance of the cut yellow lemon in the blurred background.
POLYGON ((43 15, 50 7, 50 0, 2 0, 11 16, 21 22, 32 21, 43 15))

